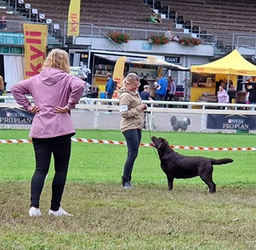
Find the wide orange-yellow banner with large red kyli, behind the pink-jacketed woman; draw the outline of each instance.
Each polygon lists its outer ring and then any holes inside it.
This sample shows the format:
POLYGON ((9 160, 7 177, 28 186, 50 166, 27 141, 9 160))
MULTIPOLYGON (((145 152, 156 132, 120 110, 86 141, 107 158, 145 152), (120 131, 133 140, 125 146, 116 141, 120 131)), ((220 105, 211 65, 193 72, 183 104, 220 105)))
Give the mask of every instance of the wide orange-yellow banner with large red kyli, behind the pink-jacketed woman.
POLYGON ((33 77, 42 69, 47 47, 47 26, 23 23, 25 48, 25 79, 33 77))

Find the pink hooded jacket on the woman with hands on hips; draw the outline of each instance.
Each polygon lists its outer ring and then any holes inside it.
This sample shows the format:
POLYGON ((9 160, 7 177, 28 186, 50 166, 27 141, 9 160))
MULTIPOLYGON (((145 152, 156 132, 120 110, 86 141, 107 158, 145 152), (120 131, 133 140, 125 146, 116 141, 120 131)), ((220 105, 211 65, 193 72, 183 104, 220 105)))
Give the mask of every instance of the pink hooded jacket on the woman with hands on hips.
POLYGON ((53 138, 69 133, 75 134, 69 113, 55 114, 56 106, 75 108, 83 95, 84 82, 60 69, 47 67, 40 74, 20 81, 12 86, 15 100, 30 111, 31 103, 26 94, 31 94, 39 114, 34 115, 29 136, 32 138, 53 138))

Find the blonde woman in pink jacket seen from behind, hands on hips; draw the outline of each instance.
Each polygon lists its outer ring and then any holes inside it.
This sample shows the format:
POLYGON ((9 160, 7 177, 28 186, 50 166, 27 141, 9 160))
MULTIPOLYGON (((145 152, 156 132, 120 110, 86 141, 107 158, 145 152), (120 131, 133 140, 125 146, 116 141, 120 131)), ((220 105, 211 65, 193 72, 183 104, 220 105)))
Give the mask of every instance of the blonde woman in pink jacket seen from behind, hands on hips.
POLYGON ((52 50, 40 74, 18 82, 11 88, 15 100, 34 114, 29 136, 36 157, 36 170, 31 179, 31 207, 29 216, 41 216, 39 198, 53 154, 55 176, 49 215, 72 216, 61 208, 61 196, 69 165, 71 136, 75 135, 70 109, 75 108, 83 95, 84 82, 69 74, 69 58, 64 50, 52 50), (30 94, 34 106, 26 98, 30 94))

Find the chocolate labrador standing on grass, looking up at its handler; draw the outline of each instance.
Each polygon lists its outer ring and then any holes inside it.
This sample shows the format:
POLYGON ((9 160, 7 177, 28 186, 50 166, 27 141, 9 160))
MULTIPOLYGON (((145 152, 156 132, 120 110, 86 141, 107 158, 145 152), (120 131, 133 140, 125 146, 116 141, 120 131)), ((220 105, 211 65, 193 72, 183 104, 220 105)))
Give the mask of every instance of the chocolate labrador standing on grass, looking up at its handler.
POLYGON ((151 145, 158 151, 162 171, 165 172, 169 190, 173 190, 173 179, 187 179, 195 176, 207 184, 210 193, 216 192, 216 185, 212 180, 213 165, 233 163, 230 158, 211 159, 199 156, 185 156, 170 148, 164 138, 151 137, 151 145))

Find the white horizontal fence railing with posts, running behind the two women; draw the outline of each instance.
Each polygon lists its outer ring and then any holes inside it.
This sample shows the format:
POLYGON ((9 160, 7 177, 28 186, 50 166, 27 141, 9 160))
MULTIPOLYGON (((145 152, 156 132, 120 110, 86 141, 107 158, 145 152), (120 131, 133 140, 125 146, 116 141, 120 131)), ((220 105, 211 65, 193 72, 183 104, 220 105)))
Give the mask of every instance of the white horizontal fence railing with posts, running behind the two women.
MULTIPOLYGON (((28 96, 32 102, 31 96, 28 96)), ((0 96, 0 100, 4 100, 4 103, 0 103, 0 107, 20 107, 12 95, 0 96)), ((143 101, 151 106, 148 107, 148 127, 154 128, 154 114, 199 114, 200 115, 200 132, 206 130, 206 118, 207 114, 229 114, 229 115, 256 115, 256 104, 241 104, 241 103, 203 103, 203 102, 185 102, 185 101, 143 101), (156 107, 162 105, 175 105, 180 108, 164 108, 156 107), (184 108, 187 107, 187 108, 184 108), (197 107, 197 108, 195 108, 197 107), (218 109, 219 107, 225 107, 225 109, 218 109), (208 109, 214 108, 214 109, 208 109), (232 109, 231 109, 232 108, 232 109), (244 109, 249 110, 244 110, 244 109), (252 110, 255 109, 255 110, 252 110)), ((101 99, 101 98, 81 98, 80 102, 76 105, 76 109, 89 109, 90 112, 94 112, 94 129, 99 128, 99 112, 119 111, 118 99, 101 99), (113 105, 108 105, 108 102, 113 105)))

